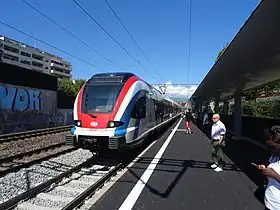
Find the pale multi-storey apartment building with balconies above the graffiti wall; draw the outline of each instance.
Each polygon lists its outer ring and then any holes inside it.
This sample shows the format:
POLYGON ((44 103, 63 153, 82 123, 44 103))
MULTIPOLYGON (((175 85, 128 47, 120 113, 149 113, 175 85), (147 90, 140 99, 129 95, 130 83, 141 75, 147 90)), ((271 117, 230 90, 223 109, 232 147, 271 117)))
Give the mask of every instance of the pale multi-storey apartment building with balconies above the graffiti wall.
POLYGON ((0 35, 0 62, 71 79, 71 63, 30 45, 0 35))

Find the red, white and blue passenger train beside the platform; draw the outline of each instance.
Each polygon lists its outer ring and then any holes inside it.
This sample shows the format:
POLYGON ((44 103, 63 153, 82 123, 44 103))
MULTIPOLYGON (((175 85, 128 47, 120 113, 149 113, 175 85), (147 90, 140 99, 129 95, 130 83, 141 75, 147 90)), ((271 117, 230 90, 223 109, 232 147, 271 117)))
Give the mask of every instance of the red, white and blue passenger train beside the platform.
POLYGON ((133 73, 98 73, 76 96, 71 141, 93 153, 131 149, 181 112, 178 103, 133 73))

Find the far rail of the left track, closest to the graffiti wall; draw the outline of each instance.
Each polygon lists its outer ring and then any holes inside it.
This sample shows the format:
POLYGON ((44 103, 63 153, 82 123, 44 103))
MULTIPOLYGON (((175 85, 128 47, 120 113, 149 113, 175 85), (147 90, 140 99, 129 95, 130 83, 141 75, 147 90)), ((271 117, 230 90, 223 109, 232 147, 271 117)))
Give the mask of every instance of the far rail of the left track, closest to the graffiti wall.
POLYGON ((44 128, 44 129, 37 129, 37 130, 31 130, 31 131, 24 131, 24 132, 18 132, 18 133, 3 134, 3 135, 0 135, 0 144, 11 142, 11 141, 17 141, 19 139, 37 137, 37 136, 42 136, 42 135, 49 135, 49 134, 59 133, 59 132, 65 132, 65 131, 69 131, 71 127, 72 127, 72 125, 67 125, 67 126, 59 126, 59 127, 53 127, 53 128, 44 128))

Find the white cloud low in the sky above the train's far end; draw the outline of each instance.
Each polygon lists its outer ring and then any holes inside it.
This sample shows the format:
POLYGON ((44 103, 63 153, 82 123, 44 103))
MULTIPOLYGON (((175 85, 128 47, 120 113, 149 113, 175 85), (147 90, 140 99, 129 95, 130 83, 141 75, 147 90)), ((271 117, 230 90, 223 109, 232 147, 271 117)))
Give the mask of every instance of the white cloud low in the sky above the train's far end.
MULTIPOLYGON (((158 85, 153 85, 155 88, 160 90, 158 85)), ((197 85, 172 85, 171 82, 165 83, 166 92, 165 94, 170 98, 180 98, 187 100, 191 97, 197 88, 197 85)))

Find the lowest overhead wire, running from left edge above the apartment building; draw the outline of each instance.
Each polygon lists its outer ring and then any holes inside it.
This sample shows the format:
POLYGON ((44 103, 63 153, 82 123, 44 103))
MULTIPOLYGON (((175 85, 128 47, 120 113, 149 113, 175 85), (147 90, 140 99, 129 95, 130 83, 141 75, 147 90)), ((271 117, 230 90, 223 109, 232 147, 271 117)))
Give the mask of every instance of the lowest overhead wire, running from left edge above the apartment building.
MULTIPOLYGON (((77 60, 79 60, 79 61, 81 61, 81 62, 83 62, 83 63, 85 63, 85 64, 87 64, 87 65, 90 65, 90 66, 92 66, 92 67, 95 67, 95 68, 97 68, 97 69, 99 69, 99 70, 102 70, 102 71, 105 71, 105 72, 106 72, 106 70, 102 69, 102 68, 99 67, 99 66, 96 66, 96 65, 93 64, 93 63, 90 63, 90 62, 88 62, 88 61, 86 61, 86 60, 84 60, 84 59, 82 59, 82 58, 79 58, 79 57, 77 57, 77 56, 75 56, 75 55, 73 55, 73 54, 71 54, 71 53, 69 53, 69 52, 66 52, 65 50, 62 50, 62 49, 60 49, 60 48, 58 48, 58 47, 56 47, 56 46, 54 46, 54 45, 52 45, 52 44, 47 43, 46 41, 43 41, 43 40, 41 40, 41 39, 38 39, 37 37, 34 37, 34 36, 32 36, 32 35, 30 35, 30 34, 24 32, 24 31, 22 31, 22 30, 20 30, 20 29, 17 29, 17 28, 15 28, 15 27, 13 27, 13 26, 11 26, 11 25, 9 25, 9 24, 7 24, 7 23, 1 21, 1 20, 0 20, 0 24, 4 25, 4 26, 6 26, 6 27, 8 27, 8 28, 10 28, 10 29, 13 29, 13 30, 15 30, 15 31, 17 31, 17 32, 19 32, 19 33, 21 33, 21 34, 24 34, 24 35, 26 35, 26 36, 28 36, 28 37, 30 37, 30 38, 32 38, 32 39, 38 41, 38 42, 41 42, 41 43, 43 43, 43 44, 45 44, 45 45, 47 45, 47 46, 49 46, 49 47, 51 47, 51 48, 53 48, 53 49, 55 49, 55 50, 57 50, 57 51, 62 52, 62 53, 64 53, 64 54, 68 55, 68 56, 71 56, 71 57, 73 57, 73 58, 75 58, 75 59, 77 59, 77 60)), ((85 72, 85 71, 84 71, 84 72, 85 72)), ((88 72, 85 72, 85 73, 88 73, 88 72)))

